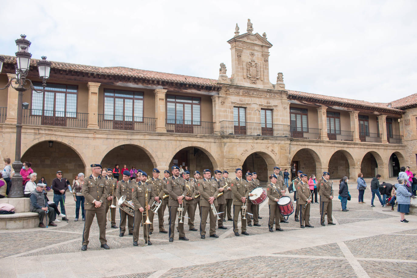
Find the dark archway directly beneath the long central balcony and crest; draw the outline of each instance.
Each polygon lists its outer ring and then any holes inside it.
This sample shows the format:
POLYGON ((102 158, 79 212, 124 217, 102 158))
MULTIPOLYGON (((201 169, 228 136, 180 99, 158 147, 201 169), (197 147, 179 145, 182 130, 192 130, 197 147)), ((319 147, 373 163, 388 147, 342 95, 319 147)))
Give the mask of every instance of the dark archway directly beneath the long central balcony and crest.
MULTIPOLYGON (((274 159, 270 155, 263 152, 256 152, 250 154, 242 165, 242 171, 245 173, 249 170, 250 172, 256 172, 258 179, 261 182, 267 183, 269 174, 273 173, 274 159)), ((284 171, 284 169, 282 169, 284 171)))

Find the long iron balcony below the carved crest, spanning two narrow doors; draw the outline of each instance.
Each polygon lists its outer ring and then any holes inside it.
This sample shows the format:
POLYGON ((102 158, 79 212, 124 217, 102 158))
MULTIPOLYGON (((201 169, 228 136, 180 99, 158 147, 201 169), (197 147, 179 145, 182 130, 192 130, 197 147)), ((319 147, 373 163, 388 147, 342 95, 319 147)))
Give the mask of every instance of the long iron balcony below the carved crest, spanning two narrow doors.
POLYGON ((289 125, 221 121, 222 135, 291 137, 289 125))

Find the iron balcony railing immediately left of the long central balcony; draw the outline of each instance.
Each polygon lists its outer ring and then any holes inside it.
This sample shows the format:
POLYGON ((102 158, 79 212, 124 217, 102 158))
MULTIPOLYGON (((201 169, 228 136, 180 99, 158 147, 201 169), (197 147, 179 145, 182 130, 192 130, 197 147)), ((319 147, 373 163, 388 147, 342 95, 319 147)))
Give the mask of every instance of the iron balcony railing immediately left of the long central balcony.
POLYGON ((165 119, 166 132, 213 134, 214 123, 191 120, 165 119))

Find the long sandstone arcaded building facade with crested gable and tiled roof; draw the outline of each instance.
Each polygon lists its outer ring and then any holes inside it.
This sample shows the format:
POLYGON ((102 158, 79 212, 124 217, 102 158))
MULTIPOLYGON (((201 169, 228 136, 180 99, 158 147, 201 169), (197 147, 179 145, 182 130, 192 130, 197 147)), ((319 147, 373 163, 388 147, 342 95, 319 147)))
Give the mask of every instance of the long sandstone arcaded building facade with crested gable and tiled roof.
MULTIPOLYGON (((287 90, 282 73, 269 80, 266 34, 248 21, 231 46, 231 75, 219 79, 123 67, 52 63, 43 94, 23 102, 22 161, 47 180, 90 173, 91 163, 151 172, 173 164, 193 170, 256 171, 266 182, 276 165, 309 175, 395 175, 416 168, 417 108, 287 90), (414 117, 414 118, 413 118, 414 117), (414 126, 414 129, 412 128, 414 126), (402 136, 404 135, 404 140, 402 136)), ((0 86, 13 78, 6 56, 0 86)), ((29 78, 37 80, 35 60, 29 78)), ((36 85, 36 84, 35 84, 36 85)), ((0 91, 1 158, 14 158, 17 92, 0 91)), ((417 106, 417 105, 416 105, 417 106)))

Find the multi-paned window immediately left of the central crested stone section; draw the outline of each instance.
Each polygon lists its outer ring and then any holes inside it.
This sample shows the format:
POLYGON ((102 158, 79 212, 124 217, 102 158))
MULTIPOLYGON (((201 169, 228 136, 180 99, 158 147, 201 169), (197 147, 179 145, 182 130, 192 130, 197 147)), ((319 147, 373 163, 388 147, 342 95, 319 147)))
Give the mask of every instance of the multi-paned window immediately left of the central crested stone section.
POLYGON ((201 98, 166 96, 168 124, 201 125, 201 98))

